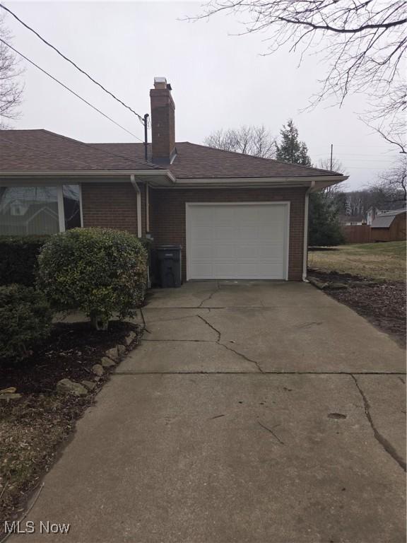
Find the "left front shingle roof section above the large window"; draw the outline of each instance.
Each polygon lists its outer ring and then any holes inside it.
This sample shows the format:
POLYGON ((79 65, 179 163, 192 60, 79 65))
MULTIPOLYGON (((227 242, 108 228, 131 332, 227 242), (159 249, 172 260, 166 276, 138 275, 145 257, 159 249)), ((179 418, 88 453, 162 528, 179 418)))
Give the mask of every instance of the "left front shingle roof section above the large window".
POLYGON ((116 156, 48 130, 0 130, 0 172, 155 168, 142 159, 116 156))

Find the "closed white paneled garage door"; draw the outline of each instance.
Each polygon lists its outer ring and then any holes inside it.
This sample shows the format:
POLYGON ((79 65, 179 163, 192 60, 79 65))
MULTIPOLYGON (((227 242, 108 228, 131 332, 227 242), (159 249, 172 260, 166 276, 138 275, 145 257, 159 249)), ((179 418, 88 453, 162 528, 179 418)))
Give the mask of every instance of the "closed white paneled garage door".
POLYGON ((288 202, 187 204, 187 279, 287 279, 288 202))

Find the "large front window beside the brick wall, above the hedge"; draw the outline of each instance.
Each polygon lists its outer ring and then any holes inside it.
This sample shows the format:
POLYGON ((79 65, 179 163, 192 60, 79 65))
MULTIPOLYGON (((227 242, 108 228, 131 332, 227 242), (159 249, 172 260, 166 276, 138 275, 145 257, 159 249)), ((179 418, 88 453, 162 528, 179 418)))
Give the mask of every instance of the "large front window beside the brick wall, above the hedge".
POLYGON ((0 235, 54 234, 81 226, 81 190, 59 187, 0 187, 0 235))

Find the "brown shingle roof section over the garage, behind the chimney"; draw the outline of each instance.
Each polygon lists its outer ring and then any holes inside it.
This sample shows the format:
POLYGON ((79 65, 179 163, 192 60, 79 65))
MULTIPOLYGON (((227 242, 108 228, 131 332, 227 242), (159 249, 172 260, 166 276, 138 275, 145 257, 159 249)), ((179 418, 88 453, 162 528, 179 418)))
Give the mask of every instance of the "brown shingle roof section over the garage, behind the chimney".
MULTIPOLYGON (((144 153, 143 144, 93 144, 114 153, 136 156, 144 153)), ((216 177, 315 177, 340 173, 289 164, 271 158, 220 151, 204 145, 182 141, 176 144, 177 156, 167 168, 178 179, 216 177)), ((150 151, 149 151, 150 152, 150 151)))

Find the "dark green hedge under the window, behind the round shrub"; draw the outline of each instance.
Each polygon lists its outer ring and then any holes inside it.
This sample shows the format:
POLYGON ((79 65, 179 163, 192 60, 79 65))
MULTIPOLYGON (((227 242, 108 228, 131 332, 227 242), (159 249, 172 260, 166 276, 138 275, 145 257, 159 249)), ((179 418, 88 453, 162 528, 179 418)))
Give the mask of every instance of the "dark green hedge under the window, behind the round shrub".
POLYGON ((0 236, 0 285, 35 284, 37 256, 49 236, 0 236))

